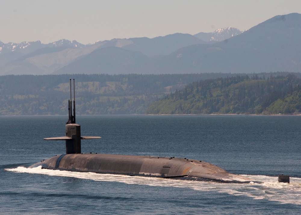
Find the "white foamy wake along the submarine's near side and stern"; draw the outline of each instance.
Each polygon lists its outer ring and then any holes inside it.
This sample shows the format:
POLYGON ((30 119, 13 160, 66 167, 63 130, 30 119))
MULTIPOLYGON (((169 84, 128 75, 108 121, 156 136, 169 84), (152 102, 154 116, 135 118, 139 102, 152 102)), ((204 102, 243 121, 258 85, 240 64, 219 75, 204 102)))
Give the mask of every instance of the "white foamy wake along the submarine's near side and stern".
POLYGON ((126 184, 149 185, 149 186, 166 186, 166 187, 180 187, 188 188, 197 191, 213 191, 228 193, 236 196, 248 196, 256 199, 266 199, 269 201, 279 201, 284 204, 301 204, 301 179, 290 178, 290 184, 279 183, 278 177, 269 176, 250 176, 256 181, 263 182, 262 184, 247 183, 247 184, 233 184, 233 183, 217 183, 217 182, 202 182, 202 181, 186 181, 186 180, 172 180, 156 177, 141 177, 141 176, 125 176, 112 174, 98 174, 98 173, 79 173, 60 170, 47 170, 36 168, 17 167, 14 169, 5 169, 7 171, 14 171, 16 173, 31 173, 31 174, 45 174, 49 176, 75 177, 81 179, 91 179, 94 181, 108 181, 108 182, 122 182, 126 184))

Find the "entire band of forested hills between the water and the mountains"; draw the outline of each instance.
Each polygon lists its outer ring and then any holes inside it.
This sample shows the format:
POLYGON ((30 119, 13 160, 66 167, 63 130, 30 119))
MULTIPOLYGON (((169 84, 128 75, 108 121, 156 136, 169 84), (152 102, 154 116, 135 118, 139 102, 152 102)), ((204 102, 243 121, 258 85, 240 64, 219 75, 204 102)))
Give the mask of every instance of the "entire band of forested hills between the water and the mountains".
POLYGON ((0 115, 67 115, 70 78, 76 83, 77 114, 291 113, 301 106, 295 92, 300 76, 7 75, 0 76, 0 115))

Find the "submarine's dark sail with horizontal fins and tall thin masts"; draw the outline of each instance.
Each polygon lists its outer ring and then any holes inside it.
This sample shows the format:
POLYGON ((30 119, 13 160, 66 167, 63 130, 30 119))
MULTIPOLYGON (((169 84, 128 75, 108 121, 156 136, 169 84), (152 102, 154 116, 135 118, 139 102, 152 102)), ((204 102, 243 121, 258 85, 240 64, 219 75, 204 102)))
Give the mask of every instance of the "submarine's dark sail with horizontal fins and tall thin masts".
POLYGON ((101 137, 81 136, 80 125, 75 122, 75 84, 73 79, 73 115, 72 115, 72 91, 70 79, 70 100, 68 102, 68 121, 64 137, 50 137, 44 140, 66 140, 66 154, 81 154, 82 139, 98 139, 101 137))

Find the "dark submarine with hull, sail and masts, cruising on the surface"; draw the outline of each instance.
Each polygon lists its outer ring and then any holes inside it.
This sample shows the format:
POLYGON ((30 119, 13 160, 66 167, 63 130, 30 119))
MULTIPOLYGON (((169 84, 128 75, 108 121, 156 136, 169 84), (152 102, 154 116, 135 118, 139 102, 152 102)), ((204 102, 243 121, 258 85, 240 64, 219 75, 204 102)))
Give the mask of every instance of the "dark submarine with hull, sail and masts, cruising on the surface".
POLYGON ((81 140, 98 139, 98 136, 81 136, 80 125, 75 116, 75 85, 72 90, 70 79, 70 100, 68 101, 68 120, 63 137, 44 138, 45 140, 65 140, 66 154, 56 155, 29 168, 41 167, 50 170, 93 172, 128 176, 159 177, 194 181, 212 181, 224 183, 261 183, 253 179, 232 174, 202 160, 175 157, 152 157, 120 154, 83 154, 81 140))

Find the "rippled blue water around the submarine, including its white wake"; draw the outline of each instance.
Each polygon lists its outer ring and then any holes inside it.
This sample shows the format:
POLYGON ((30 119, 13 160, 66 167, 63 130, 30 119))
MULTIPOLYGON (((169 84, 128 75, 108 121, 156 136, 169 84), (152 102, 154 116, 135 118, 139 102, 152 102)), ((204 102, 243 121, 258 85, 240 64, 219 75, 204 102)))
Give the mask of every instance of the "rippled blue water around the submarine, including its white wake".
POLYGON ((77 116, 84 153, 187 157, 263 184, 221 184, 24 164, 64 154, 67 117, 0 117, 0 214, 299 214, 301 116, 77 116), (278 174, 290 184, 278 183, 278 174))

